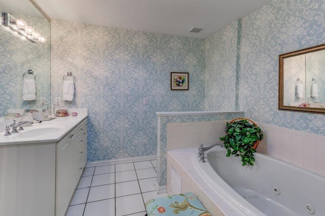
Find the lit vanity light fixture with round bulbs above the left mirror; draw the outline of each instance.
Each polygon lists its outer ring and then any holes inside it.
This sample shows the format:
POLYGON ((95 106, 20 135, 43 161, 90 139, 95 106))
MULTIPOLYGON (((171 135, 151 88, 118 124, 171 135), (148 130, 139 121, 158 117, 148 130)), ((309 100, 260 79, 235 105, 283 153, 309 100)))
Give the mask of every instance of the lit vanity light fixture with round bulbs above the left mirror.
POLYGON ((26 21, 22 19, 15 19, 11 14, 1 13, 1 24, 5 31, 11 31, 12 35, 20 36, 22 40, 29 40, 36 43, 37 41, 45 42, 46 38, 42 37, 40 33, 36 32, 31 26, 28 26, 26 21))

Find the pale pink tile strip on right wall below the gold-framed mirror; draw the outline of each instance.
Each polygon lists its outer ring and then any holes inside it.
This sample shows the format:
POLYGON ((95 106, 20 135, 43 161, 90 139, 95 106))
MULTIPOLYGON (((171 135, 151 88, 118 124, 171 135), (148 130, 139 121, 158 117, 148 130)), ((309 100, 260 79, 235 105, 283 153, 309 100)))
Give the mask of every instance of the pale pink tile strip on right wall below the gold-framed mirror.
POLYGON ((325 177, 325 136, 258 123, 264 138, 257 151, 325 177))

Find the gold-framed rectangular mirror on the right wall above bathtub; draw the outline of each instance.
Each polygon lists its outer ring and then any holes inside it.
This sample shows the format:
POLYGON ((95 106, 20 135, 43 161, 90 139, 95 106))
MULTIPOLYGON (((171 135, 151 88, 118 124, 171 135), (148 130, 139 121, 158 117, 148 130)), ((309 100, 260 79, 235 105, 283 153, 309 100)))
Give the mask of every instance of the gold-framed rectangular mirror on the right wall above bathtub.
POLYGON ((325 45, 279 55, 279 109, 325 113, 325 45))

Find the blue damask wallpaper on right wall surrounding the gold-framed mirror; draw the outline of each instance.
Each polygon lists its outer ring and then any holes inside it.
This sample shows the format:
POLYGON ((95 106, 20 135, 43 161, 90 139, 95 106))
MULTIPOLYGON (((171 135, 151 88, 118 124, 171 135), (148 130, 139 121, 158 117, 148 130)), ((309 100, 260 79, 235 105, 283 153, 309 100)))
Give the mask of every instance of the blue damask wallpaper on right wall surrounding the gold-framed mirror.
POLYGON ((257 122, 325 135, 325 116, 278 110, 278 55, 323 44, 324 0, 274 0, 242 19, 239 105, 257 122))

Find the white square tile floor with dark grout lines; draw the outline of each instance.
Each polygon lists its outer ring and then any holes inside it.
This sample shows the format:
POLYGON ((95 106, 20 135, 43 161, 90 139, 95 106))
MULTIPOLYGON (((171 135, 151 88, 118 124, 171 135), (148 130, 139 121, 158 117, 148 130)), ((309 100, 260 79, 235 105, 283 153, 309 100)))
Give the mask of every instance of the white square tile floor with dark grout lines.
POLYGON ((85 168, 66 216, 144 216, 157 194, 156 160, 85 168))

